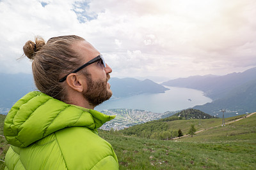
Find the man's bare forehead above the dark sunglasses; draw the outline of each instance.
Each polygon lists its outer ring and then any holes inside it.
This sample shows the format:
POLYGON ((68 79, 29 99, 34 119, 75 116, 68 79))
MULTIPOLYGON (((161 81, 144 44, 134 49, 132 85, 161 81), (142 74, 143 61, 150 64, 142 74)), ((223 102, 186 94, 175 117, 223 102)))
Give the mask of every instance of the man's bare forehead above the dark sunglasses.
POLYGON ((78 53, 81 59, 84 62, 88 62, 89 60, 93 59, 100 55, 100 52, 96 50, 88 41, 77 41, 72 45, 72 49, 78 53))

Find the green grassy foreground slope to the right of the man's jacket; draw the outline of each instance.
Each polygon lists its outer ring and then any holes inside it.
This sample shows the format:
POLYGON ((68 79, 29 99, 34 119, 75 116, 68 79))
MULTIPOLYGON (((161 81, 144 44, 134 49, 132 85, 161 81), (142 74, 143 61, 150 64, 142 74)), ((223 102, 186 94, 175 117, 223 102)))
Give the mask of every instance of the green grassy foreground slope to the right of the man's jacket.
POLYGON ((113 145, 120 169, 254 169, 256 166, 255 142, 159 141, 104 133, 100 136, 113 145))

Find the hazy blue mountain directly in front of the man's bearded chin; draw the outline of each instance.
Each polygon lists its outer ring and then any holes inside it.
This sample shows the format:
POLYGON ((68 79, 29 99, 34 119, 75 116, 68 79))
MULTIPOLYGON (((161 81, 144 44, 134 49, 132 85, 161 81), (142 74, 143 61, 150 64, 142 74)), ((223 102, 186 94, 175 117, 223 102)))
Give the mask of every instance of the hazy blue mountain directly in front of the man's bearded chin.
POLYGON ((152 80, 137 80, 135 78, 111 78, 109 80, 113 97, 127 97, 138 94, 161 93, 169 90, 152 80))

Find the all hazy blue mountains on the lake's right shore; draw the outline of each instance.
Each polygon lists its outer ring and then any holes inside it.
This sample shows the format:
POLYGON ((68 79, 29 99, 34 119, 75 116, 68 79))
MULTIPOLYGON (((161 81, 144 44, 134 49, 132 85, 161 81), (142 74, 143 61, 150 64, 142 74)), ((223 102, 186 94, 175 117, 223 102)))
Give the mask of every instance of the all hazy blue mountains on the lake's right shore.
POLYGON ((214 115, 221 109, 227 112, 256 111, 256 67, 243 73, 231 73, 225 76, 190 76, 166 81, 161 85, 186 87, 202 90, 212 103, 195 106, 195 109, 214 115))

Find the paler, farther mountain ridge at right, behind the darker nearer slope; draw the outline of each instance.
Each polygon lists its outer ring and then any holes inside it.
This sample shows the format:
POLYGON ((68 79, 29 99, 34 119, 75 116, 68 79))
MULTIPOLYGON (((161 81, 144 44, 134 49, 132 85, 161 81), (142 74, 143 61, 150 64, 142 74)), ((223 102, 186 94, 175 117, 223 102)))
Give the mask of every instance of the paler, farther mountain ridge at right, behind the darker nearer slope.
POLYGON ((206 96, 215 100, 226 96, 231 89, 255 79, 256 67, 253 67, 243 73, 231 73, 225 76, 190 76, 188 78, 165 81, 161 85, 202 90, 206 96))

